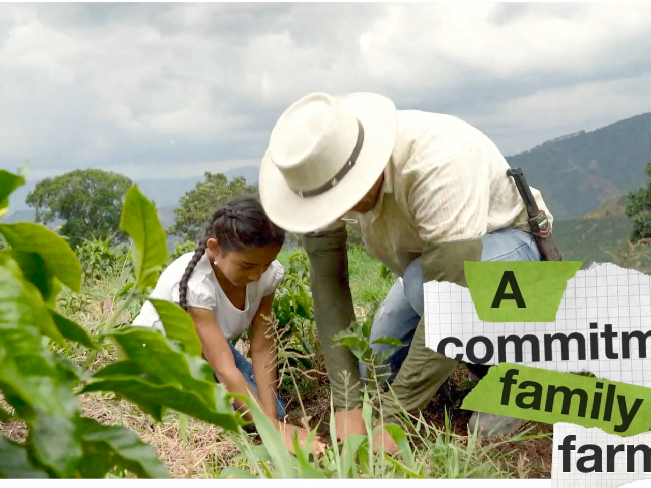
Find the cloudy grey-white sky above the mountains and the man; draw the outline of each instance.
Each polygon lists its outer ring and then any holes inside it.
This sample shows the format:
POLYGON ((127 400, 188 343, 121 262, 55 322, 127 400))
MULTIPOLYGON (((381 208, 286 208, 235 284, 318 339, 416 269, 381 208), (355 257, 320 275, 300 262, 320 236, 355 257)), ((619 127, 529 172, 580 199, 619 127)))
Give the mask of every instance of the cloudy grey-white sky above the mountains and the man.
POLYGON ((258 165, 312 91, 465 118, 504 154, 651 111, 651 3, 0 3, 0 167, 258 165))

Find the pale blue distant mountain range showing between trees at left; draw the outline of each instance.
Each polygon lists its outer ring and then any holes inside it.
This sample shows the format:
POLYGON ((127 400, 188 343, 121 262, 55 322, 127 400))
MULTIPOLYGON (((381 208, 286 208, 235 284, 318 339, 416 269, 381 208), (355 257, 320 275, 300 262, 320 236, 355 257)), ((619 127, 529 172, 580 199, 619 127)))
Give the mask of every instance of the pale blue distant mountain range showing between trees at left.
MULTIPOLYGON (((243 176, 246 178, 247 182, 257 184, 259 171, 260 169, 257 166, 243 166, 241 168, 233 168, 223 171, 223 174, 225 174, 229 180, 236 176, 243 176)), ((142 191, 147 198, 156 202, 158 208, 163 208, 176 206, 179 198, 181 198, 186 191, 193 189, 198 182, 202 182, 203 180, 204 176, 201 175, 193 176, 192 178, 147 178, 145 180, 136 180, 134 183, 137 183, 140 191, 142 191)), ((29 192, 31 192, 36 186, 36 183, 37 182, 35 181, 27 182, 25 186, 18 188, 14 193, 12 193, 9 200, 10 212, 30 211, 27 204, 25 204, 25 200, 27 199, 29 192)))

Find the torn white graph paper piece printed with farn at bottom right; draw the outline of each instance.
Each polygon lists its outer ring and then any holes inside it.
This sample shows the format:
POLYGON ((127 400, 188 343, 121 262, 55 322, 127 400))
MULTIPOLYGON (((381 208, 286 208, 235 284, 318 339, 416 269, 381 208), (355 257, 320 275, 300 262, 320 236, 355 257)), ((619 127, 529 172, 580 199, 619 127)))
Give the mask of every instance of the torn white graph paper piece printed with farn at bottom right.
MULTIPOLYGON (((553 488, 616 488, 631 483, 631 481, 651 478, 651 472, 644 472, 643 453, 635 454, 635 472, 626 472, 626 451, 615 455, 615 471, 606 472, 606 446, 607 444, 638 445, 646 444, 651 446, 651 432, 631 437, 620 437, 607 434, 602 429, 593 427, 575 426, 574 424, 554 424, 554 443, 551 455, 551 484, 553 488), (603 472, 582 473, 576 469, 576 459, 593 455, 592 451, 577 455, 576 451, 570 453, 570 472, 562 472, 562 455, 559 445, 562 444, 566 435, 575 435, 573 442, 577 448, 584 444, 597 444, 602 446, 602 469, 603 472)), ((592 466, 592 461, 587 461, 592 466)), ((651 484, 651 483, 650 483, 651 484)), ((633 485, 635 486, 635 485, 633 485)))

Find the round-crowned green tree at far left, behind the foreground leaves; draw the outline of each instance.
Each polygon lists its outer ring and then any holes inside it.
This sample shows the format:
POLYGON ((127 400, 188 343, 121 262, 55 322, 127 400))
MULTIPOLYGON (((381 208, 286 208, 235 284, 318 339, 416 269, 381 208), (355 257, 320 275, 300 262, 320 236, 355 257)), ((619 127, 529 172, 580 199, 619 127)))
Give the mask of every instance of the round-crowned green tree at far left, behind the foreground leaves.
POLYGON ((36 184, 27 204, 36 210, 36 222, 63 221, 61 230, 72 249, 84 239, 125 241, 120 231, 120 209, 133 182, 100 169, 74 170, 36 184))

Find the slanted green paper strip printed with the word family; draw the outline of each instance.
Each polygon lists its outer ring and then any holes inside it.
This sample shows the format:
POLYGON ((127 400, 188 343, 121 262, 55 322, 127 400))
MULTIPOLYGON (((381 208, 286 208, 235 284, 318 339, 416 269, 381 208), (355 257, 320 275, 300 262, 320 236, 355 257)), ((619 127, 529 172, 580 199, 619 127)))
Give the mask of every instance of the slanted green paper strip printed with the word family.
POLYGON ((503 362, 488 370, 462 409, 629 437, 651 426, 651 388, 503 362))

